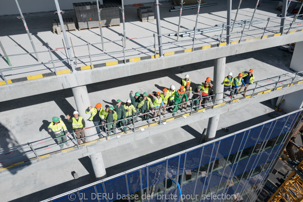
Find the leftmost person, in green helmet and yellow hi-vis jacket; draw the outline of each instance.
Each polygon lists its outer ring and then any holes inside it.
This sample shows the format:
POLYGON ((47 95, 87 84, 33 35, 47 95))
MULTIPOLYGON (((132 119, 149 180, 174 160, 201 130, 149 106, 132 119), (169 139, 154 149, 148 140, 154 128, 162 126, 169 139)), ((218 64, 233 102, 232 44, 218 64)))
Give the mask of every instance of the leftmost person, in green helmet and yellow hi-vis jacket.
POLYGON ((56 139, 61 149, 64 147, 63 143, 69 146, 69 143, 67 143, 66 139, 66 136, 68 136, 66 125, 58 117, 53 117, 52 123, 48 125, 48 132, 52 131, 55 133, 56 139))

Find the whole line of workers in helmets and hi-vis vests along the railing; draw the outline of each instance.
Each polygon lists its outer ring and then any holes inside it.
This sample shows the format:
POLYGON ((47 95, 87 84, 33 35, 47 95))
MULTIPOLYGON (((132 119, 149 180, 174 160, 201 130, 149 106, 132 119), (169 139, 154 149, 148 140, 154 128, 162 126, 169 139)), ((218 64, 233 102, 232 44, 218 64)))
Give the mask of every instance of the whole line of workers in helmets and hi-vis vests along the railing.
MULTIPOLYGON (((228 76, 225 77, 224 83, 224 92, 230 91, 230 97, 234 94, 239 94, 242 87, 244 87, 244 96, 247 90, 247 87, 254 82, 254 75, 252 74, 253 70, 243 71, 239 73, 237 77, 233 78, 232 73, 229 72, 228 76)), ((193 100, 193 109, 197 110, 199 107, 205 107, 206 99, 209 95, 209 89, 213 87, 211 84, 211 78, 207 77, 205 82, 202 85, 197 85, 197 87, 192 90, 191 79, 189 75, 186 74, 185 78, 180 82, 180 88, 176 90, 174 85, 171 85, 169 89, 164 88, 163 92, 157 92, 156 95, 153 93, 147 94, 143 92, 141 95, 139 92, 136 92, 133 96, 133 91, 129 93, 129 99, 126 100, 126 103, 122 105, 121 99, 117 100, 115 106, 107 107, 106 109, 102 108, 102 104, 98 103, 95 107, 88 107, 85 110, 86 114, 90 114, 88 121, 92 121, 96 126, 96 131, 99 137, 102 137, 101 130, 107 131, 108 135, 111 135, 112 132, 116 133, 116 127, 122 127, 123 131, 127 133, 127 125, 132 121, 136 122, 139 114, 142 116, 142 120, 146 120, 148 124, 149 121, 149 111, 153 116, 153 121, 158 121, 158 116, 160 113, 165 117, 166 108, 170 106, 172 110, 172 115, 175 116, 180 105, 181 110, 187 109, 187 102, 192 92, 193 100), (153 100, 150 97, 153 97, 153 100), (105 124, 107 123, 107 124, 105 124), (106 125, 106 129, 105 129, 106 125)), ((75 111, 73 113, 74 117, 71 118, 70 115, 66 115, 68 122, 72 123, 73 131, 77 135, 78 143, 85 143, 84 139, 84 129, 85 129, 85 120, 83 117, 79 116, 79 112, 75 111)), ((58 117, 53 117, 53 121, 48 126, 49 132, 54 132, 58 140, 58 144, 61 149, 64 146, 64 143, 69 146, 67 143, 66 136, 68 135, 67 127, 62 120, 58 117)))

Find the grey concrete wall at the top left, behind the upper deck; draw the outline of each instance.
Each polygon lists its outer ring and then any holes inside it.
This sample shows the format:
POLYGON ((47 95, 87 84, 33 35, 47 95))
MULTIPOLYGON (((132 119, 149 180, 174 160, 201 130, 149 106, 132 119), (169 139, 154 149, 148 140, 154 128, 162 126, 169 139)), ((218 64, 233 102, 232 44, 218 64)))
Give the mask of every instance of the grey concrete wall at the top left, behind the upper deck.
MULTIPOLYGON (((73 9, 73 3, 92 2, 94 0, 58 0, 61 10, 73 9)), ((19 5, 23 13, 35 13, 45 11, 55 11, 54 0, 19 0, 19 5)), ((99 0, 99 2, 102 2, 99 0)), ((154 2, 153 0, 124 0, 124 5, 143 4, 154 2)), ((18 14, 15 0, 0 0, 0 15, 18 14)))

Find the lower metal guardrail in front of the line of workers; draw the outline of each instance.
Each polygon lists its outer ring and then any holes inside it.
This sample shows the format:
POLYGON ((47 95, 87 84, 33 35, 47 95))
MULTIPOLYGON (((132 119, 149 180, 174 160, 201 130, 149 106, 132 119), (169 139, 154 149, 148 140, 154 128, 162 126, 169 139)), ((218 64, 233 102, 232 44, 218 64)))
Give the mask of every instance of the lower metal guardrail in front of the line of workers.
MULTIPOLYGON (((291 86, 294 82, 296 82, 296 80, 297 81, 302 81, 303 80, 303 77, 298 76, 298 74, 300 74, 300 73, 303 73, 303 71, 296 72, 294 74, 283 74, 283 75, 280 75, 280 76, 275 76, 275 77, 271 77, 271 78, 267 78, 267 79, 257 81, 257 82, 255 82, 255 84, 251 84, 251 85, 255 85, 255 87, 250 88, 250 90, 246 91, 246 94, 247 94, 247 96, 250 96, 251 98, 255 98, 256 95, 260 93, 260 91, 258 91, 258 92, 256 91, 258 89, 261 89, 261 92, 263 92, 263 91, 267 91, 269 89, 268 87, 271 86, 272 91, 275 91, 277 88, 280 87, 280 86, 278 87, 279 84, 281 84, 282 86, 286 85, 286 84, 284 84, 285 82, 288 82, 287 85, 291 86), (268 82, 270 82, 270 83, 268 84, 268 82), (267 83, 267 84, 266 85, 261 85, 262 83, 267 83), (263 90, 264 88, 265 88, 265 90, 263 90), (250 94, 250 92, 251 92, 251 94, 250 94)), ((232 92, 232 95, 233 95, 234 91, 235 91, 235 89, 233 89, 229 92, 232 92)), ((226 101, 226 98, 218 99, 217 95, 222 94, 222 93, 223 93, 223 95, 227 94, 227 92, 221 92, 221 93, 217 93, 217 94, 213 94, 213 95, 209 95, 209 96, 205 97, 206 99, 208 99, 208 102, 206 102, 205 104, 201 104, 201 107, 204 107, 206 110, 214 109, 217 102, 220 102, 220 103, 225 102, 226 104, 228 104, 228 103, 231 104, 232 102, 234 102, 235 99, 239 99, 239 98, 233 98, 233 96, 231 96, 230 100, 227 100, 227 101, 226 101)), ((229 99, 229 97, 227 99, 229 99)), ((184 114, 189 114, 189 116, 191 116, 192 113, 195 111, 194 108, 197 107, 197 106, 193 105, 195 100, 197 100, 197 99, 188 100, 186 112, 184 112, 183 114, 179 113, 177 116, 184 115, 184 114)), ((181 106, 182 104, 185 104, 185 103, 180 103, 180 104, 177 104, 177 105, 181 106)), ((158 125, 160 125, 161 123, 166 122, 167 119, 171 119, 172 117, 169 117, 169 118, 167 117, 168 115, 172 114, 171 112, 168 112, 168 109, 173 109, 177 105, 172 105, 172 106, 166 107, 166 111, 165 111, 165 115, 164 115, 165 117, 161 113, 161 111, 163 110, 162 108, 154 110, 154 112, 160 111, 160 115, 159 115, 159 121, 155 121, 153 124, 158 123, 158 125)), ((218 105, 221 105, 221 104, 218 104, 218 105)), ((179 111, 179 109, 178 109, 178 111, 179 111)), ((182 110, 181 110, 181 112, 182 112, 182 110)), ((152 113, 147 112, 147 113, 144 113, 144 114, 139 114, 139 117, 142 117, 144 115, 149 116, 149 114, 152 114, 152 113)), ((104 125, 105 132, 102 132, 102 135, 105 137, 106 140, 108 140, 109 136, 118 135, 118 134, 122 133, 122 132, 118 132, 118 133, 115 133, 115 134, 112 134, 112 135, 108 135, 108 132, 114 132, 114 130, 120 130, 120 129, 122 131, 124 131, 123 130, 124 127, 131 127, 130 130, 133 130, 133 132, 135 132, 136 129, 139 129, 143 126, 146 126, 146 124, 142 125, 142 123, 145 120, 141 119, 140 121, 135 122, 134 121, 134 115, 132 115, 132 117, 127 117, 126 121, 128 121, 129 119, 131 120, 131 124, 126 125, 126 126, 116 127, 115 129, 111 129, 111 130, 107 130, 107 125, 113 124, 114 122, 105 123, 105 125, 104 125)), ((153 119, 153 118, 150 118, 150 119, 153 119)), ((121 121, 123 121, 123 120, 116 121, 116 124, 118 124, 121 121)), ((95 127, 100 127, 102 125, 103 124, 100 124, 100 125, 97 125, 97 126, 87 127, 87 128, 85 128, 85 130, 95 128, 95 127)), ((80 148, 80 146, 78 144, 78 141, 77 141, 77 138, 76 138, 75 132, 73 132, 72 134, 73 134, 72 138, 70 138, 70 140, 68 140, 67 142, 68 143, 69 142, 73 143, 74 146, 77 146, 77 148, 80 148)), ((94 136, 97 136, 97 135, 98 134, 93 134, 93 135, 86 136, 86 137, 80 138, 80 139, 85 139, 87 137, 94 137, 94 136)), ((59 137, 59 138, 61 138, 61 137, 59 137)), ((32 142, 30 144, 28 143, 28 145, 26 145, 26 146, 20 146, 20 147, 17 147, 17 148, 14 147, 13 149, 6 150, 6 151, 0 150, 0 155, 9 155, 9 154, 13 154, 15 151, 20 151, 20 150, 22 151, 22 150, 30 149, 29 151, 25 151, 22 155, 3 160, 0 163, 4 163, 6 161, 10 161, 10 160, 20 158, 20 157, 24 157, 24 156, 31 155, 31 154, 34 154, 34 157, 39 159, 39 156, 41 156, 41 155, 38 154, 39 152, 44 151, 46 149, 50 149, 50 148, 59 146, 56 143, 56 139, 58 139, 58 138, 52 138, 52 139, 48 139, 48 140, 45 140, 45 141, 38 140, 38 141, 32 142), (49 145, 46 145, 46 146, 42 146, 42 147, 40 146, 42 143, 46 143, 46 142, 53 142, 53 143, 49 144, 49 145), (38 146, 40 146, 40 147, 38 147, 38 146)), ((92 141, 95 141, 95 140, 92 140, 92 141)), ((74 146, 72 146, 72 147, 74 147, 74 146)), ((57 151, 60 151, 60 149, 57 150, 57 151)))

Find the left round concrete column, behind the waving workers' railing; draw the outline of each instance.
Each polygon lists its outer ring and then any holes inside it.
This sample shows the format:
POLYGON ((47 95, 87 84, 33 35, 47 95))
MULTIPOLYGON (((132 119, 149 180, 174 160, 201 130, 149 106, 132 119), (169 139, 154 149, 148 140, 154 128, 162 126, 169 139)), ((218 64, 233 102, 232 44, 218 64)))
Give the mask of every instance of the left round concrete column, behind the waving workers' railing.
MULTIPOLYGON (((72 91, 74 94, 74 98, 75 98, 75 102, 76 102, 76 106, 77 106, 79 115, 82 116, 83 119, 85 120, 85 127, 94 126, 92 121, 87 121, 87 119, 89 119, 89 117, 90 117, 90 114, 85 113, 85 110, 87 109, 87 107, 90 106, 90 101, 89 101, 86 86, 74 87, 74 88, 72 88, 72 91)), ((86 141, 92 141, 92 140, 97 139, 98 138, 97 135, 95 135, 93 137, 89 137, 90 135, 94 135, 96 133, 97 133, 97 131, 95 128, 90 128, 90 129, 84 130, 86 141)), ((93 153, 93 151, 94 151, 93 147, 87 146, 86 148, 87 148, 88 153, 93 153)), ((91 154, 89 156, 89 158, 90 158, 96 179, 99 180, 99 179, 105 178, 106 170, 105 170, 102 153, 99 152, 99 153, 91 154)))

